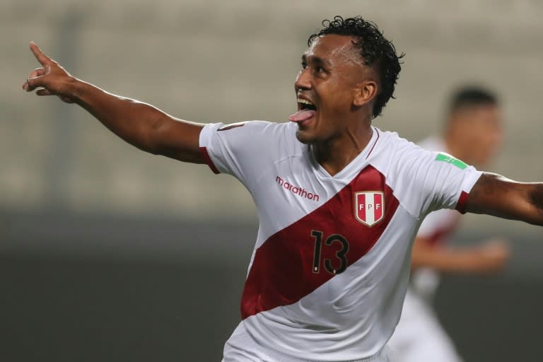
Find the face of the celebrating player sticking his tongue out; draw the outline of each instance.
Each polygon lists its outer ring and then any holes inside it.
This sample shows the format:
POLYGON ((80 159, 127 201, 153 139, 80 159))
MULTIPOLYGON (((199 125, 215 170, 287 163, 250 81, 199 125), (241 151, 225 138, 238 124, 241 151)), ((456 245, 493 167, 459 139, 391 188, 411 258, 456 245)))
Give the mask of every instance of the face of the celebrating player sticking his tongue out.
POLYGON ((351 37, 315 39, 303 54, 294 83, 298 112, 290 119, 298 124, 298 140, 305 144, 329 141, 359 123, 361 107, 370 107, 375 93, 372 75, 351 37))

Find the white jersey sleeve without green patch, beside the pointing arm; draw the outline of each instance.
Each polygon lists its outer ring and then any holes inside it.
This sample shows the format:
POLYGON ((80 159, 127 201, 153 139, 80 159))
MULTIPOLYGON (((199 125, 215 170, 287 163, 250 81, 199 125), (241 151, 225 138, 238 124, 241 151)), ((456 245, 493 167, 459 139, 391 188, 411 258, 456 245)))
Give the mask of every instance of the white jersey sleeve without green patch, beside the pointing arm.
POLYGON ((281 131, 279 124, 264 121, 206 124, 200 133, 200 151, 214 173, 233 175, 251 190, 273 158, 281 131))

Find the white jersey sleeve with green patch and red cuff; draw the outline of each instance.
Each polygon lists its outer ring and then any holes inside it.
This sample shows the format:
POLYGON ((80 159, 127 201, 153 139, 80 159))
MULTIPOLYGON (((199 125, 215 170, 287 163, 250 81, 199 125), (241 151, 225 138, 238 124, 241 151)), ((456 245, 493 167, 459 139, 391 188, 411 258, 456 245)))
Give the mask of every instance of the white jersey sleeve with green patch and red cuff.
POLYGON ((462 214, 481 172, 443 152, 426 151, 410 142, 397 149, 393 168, 395 194, 416 217, 439 209, 462 214))

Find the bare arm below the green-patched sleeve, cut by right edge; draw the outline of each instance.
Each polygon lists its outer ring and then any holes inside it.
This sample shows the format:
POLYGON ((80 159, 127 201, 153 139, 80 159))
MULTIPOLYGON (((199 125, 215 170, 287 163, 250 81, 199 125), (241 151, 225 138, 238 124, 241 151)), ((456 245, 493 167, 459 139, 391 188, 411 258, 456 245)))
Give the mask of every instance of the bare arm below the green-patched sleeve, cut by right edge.
POLYGON ((543 226, 543 182, 516 182, 484 173, 469 192, 465 211, 543 226))

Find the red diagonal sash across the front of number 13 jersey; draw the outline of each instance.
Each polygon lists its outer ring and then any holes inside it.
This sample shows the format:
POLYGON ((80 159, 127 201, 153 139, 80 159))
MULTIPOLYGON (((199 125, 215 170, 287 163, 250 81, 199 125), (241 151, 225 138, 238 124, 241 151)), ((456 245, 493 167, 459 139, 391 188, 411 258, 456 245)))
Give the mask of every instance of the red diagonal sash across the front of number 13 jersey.
POLYGON ((271 235, 255 254, 241 300, 243 319, 296 303, 366 255, 395 214, 398 201, 372 166, 318 209, 271 235), (355 194, 383 192, 385 215, 373 226, 356 220, 355 194))

